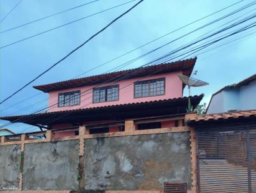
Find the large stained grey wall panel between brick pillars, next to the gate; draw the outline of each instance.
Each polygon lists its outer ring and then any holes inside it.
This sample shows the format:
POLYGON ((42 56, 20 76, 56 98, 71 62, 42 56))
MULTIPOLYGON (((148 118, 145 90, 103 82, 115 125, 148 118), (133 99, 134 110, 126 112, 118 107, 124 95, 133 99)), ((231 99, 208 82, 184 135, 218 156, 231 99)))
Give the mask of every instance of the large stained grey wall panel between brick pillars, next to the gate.
POLYGON ((86 190, 163 189, 164 181, 191 186, 189 133, 85 139, 86 190))

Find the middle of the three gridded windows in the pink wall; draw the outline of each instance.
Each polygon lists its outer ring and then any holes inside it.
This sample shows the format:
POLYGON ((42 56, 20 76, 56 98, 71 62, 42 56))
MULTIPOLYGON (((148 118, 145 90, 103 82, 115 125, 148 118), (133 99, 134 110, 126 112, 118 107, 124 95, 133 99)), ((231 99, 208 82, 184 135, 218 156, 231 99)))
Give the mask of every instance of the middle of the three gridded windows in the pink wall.
POLYGON ((119 86, 104 86, 100 88, 93 88, 93 102, 108 102, 118 100, 119 86))

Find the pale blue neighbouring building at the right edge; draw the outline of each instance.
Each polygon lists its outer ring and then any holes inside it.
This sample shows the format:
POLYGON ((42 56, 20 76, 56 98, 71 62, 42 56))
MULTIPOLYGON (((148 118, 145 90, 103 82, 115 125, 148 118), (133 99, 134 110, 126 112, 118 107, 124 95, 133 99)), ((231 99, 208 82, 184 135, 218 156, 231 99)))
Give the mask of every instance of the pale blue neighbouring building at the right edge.
POLYGON ((256 74, 214 93, 206 114, 256 109, 256 74))

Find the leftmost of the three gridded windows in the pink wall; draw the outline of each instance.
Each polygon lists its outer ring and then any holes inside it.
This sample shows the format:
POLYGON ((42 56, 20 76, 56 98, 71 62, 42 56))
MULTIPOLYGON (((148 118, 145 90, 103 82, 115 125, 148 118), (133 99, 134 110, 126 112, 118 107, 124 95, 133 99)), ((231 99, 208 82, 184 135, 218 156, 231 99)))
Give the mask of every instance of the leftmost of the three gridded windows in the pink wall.
POLYGON ((80 91, 59 93, 58 107, 68 107, 80 104, 80 91))

